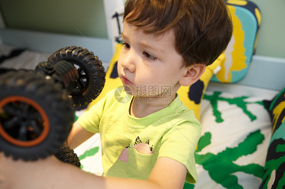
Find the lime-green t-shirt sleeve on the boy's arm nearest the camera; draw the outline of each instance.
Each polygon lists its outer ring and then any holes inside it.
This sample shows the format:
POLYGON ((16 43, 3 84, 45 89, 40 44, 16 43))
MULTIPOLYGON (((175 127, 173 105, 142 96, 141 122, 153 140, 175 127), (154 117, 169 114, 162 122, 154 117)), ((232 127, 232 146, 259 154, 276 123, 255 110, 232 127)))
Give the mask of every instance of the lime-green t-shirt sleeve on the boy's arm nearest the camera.
POLYGON ((196 118, 174 125, 162 138, 159 157, 174 159, 187 168, 186 181, 197 182, 194 152, 201 134, 201 125, 196 118))

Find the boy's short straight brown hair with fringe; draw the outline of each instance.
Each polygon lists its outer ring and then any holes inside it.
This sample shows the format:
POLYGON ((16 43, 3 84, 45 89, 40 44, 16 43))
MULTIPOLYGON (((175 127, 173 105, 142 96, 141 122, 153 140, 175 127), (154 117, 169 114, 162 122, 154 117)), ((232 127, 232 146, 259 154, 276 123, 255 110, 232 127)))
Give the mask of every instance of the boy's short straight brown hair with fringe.
POLYGON ((155 35, 173 28, 185 66, 210 65, 227 48, 233 30, 223 0, 127 0, 124 21, 155 35))

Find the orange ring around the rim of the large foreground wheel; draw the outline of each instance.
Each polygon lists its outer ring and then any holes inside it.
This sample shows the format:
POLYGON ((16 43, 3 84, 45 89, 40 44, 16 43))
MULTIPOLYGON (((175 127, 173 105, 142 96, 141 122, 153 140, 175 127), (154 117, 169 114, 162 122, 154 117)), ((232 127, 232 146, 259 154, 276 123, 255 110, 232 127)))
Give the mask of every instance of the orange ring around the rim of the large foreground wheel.
POLYGON ((43 119, 43 130, 37 138, 28 140, 28 141, 19 140, 17 138, 14 138, 13 136, 11 136, 9 133, 6 132, 0 120, 0 136, 6 139, 9 143, 19 146, 19 147, 33 147, 33 146, 37 146, 41 144, 42 141, 44 141, 47 135, 49 134, 49 130, 50 130, 50 122, 49 122, 46 112, 37 102, 29 98, 22 97, 22 96, 9 96, 9 97, 2 99, 0 101, 0 112, 2 111, 5 105, 9 103, 14 103, 14 102, 26 103, 30 105, 31 107, 33 107, 35 110, 37 110, 43 119))

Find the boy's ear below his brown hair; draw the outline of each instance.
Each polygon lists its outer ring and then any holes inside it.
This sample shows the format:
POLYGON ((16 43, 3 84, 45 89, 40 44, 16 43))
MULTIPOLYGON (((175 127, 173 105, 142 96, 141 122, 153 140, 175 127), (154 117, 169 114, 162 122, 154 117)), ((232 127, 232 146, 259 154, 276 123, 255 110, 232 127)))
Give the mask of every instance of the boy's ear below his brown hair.
POLYGON ((205 72, 206 65, 204 64, 195 64, 186 68, 186 74, 179 80, 179 83, 182 86, 190 86, 195 83, 205 72))

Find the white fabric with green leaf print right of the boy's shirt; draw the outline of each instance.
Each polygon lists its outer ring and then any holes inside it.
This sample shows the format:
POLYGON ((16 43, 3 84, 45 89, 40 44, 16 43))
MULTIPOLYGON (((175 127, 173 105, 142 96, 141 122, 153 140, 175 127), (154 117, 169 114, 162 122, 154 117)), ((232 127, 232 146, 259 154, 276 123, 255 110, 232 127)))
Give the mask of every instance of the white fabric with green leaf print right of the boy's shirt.
POLYGON ((195 153, 198 181, 184 188, 259 188, 272 128, 263 100, 205 93, 195 153))

